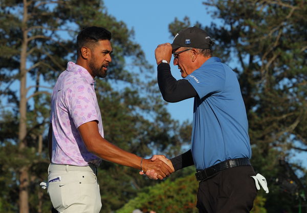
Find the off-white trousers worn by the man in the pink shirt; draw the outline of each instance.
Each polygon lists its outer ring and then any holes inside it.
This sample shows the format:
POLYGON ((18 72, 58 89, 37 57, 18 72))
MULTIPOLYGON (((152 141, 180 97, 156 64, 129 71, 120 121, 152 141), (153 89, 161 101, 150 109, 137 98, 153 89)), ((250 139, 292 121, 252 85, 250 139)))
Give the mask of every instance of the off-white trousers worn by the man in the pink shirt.
POLYGON ((95 166, 50 164, 48 174, 48 194, 57 211, 100 211, 102 204, 95 166))

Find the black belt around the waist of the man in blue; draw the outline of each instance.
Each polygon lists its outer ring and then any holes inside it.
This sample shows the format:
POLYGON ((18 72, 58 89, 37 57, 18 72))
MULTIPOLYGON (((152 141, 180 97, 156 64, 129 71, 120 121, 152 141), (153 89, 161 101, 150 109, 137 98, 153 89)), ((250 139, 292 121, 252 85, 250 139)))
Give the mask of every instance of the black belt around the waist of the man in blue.
POLYGON ((195 176, 196 180, 202 181, 226 168, 232 168, 237 166, 251 166, 251 165, 252 164, 250 163, 248 158, 236 158, 236 159, 226 160, 221 163, 217 163, 206 169, 196 170, 195 176))

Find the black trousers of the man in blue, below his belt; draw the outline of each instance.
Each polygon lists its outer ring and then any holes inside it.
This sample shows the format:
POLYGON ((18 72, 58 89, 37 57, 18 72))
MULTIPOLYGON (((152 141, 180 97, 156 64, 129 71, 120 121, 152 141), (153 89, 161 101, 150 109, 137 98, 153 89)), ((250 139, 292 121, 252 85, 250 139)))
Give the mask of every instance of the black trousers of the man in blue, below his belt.
POLYGON ((196 207, 200 213, 245 213, 257 195, 252 166, 225 169, 199 184, 196 207))

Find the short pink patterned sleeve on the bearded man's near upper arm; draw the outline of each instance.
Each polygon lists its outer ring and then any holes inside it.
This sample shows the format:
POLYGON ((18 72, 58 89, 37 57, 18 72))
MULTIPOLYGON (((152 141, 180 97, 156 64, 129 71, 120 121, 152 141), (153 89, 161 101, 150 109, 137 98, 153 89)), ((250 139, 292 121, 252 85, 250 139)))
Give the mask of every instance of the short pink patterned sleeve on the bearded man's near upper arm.
POLYGON ((68 89, 65 94, 67 99, 67 109, 73 119, 73 122, 78 128, 80 125, 98 120, 94 89, 91 85, 78 85, 73 89, 68 89))

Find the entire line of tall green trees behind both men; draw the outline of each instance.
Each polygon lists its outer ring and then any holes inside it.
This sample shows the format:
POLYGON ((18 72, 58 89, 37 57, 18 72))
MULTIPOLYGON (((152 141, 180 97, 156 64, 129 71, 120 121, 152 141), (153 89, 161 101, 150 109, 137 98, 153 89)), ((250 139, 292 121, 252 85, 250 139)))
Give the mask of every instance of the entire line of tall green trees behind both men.
MULTIPOLYGON (((238 75, 249 117, 252 164, 270 186, 270 194, 260 191, 254 212, 297 212, 299 202, 306 204, 306 168, 291 164, 300 174, 294 180, 289 164, 279 161, 289 161, 293 151, 307 151, 304 3, 206 1, 212 20, 220 19, 223 25, 202 26, 202 20, 193 24, 210 33, 217 43, 214 55, 238 75)), ((83 27, 103 26, 113 35, 112 66, 95 86, 106 139, 141 156, 151 156, 152 150, 174 156, 189 143, 191 126, 173 120, 166 111, 155 71, 133 41, 134 32, 108 14, 102 1, 2 0, 0 4, 0 212, 50 212, 50 199, 38 186, 46 180, 49 164, 50 92, 66 63, 75 61, 76 33, 83 27), (129 61, 134 65, 128 66, 129 61)), ((188 17, 174 19, 169 30, 174 35, 193 25, 188 17)), ((159 213, 195 212, 197 183, 191 178, 192 167, 157 186, 135 169, 106 161, 98 171, 101 212, 125 203, 122 210, 152 208, 152 197, 144 196, 151 193, 161 195, 155 200, 159 213), (142 192, 136 198, 142 202, 135 202, 142 205, 129 202, 142 192)))

